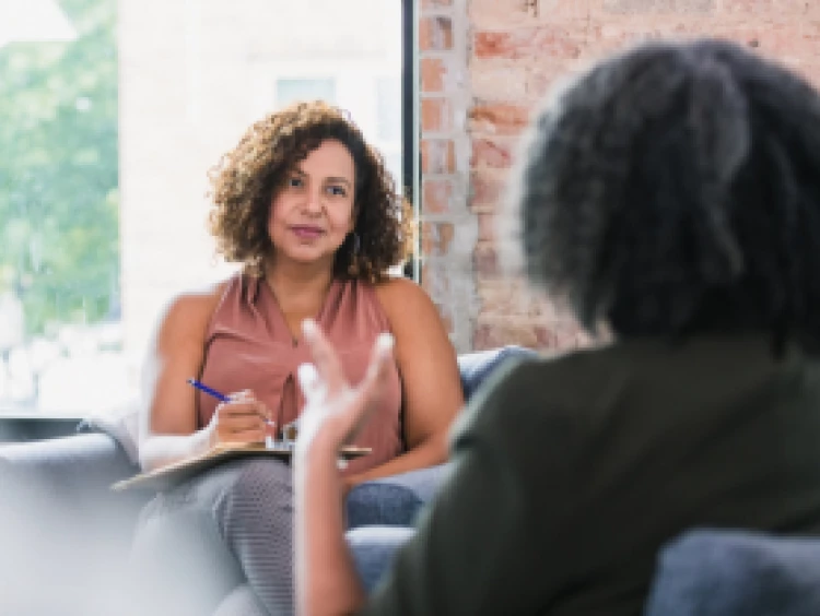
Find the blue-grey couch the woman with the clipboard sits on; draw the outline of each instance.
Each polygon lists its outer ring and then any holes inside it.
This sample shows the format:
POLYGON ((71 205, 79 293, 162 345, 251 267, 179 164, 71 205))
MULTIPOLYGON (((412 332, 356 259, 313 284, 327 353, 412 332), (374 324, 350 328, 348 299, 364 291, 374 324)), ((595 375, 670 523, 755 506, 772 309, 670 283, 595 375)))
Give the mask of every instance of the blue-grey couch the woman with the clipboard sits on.
MULTIPOLYGON (((466 399, 519 355, 534 352, 507 346, 459 356, 466 399)), ((13 590, 0 592, 0 614, 120 613, 114 589, 121 583, 137 516, 153 495, 109 486, 137 472, 116 439, 85 424, 74 436, 0 446, 0 580, 13 590)), ((409 532, 446 472, 443 465, 358 486, 347 499, 351 529, 409 532)), ((378 553, 368 547, 371 535, 364 536, 362 549, 378 553)), ((372 566, 367 571, 377 577, 372 566)))

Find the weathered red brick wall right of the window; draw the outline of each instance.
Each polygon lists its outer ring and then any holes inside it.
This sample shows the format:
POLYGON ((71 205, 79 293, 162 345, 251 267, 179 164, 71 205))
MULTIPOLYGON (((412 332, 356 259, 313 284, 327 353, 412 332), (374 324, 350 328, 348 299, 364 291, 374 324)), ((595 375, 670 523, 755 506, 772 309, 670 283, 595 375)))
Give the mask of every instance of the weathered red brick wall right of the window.
POLYGON ((423 284, 459 351, 585 337, 497 268, 503 187, 555 78, 649 37, 750 45, 820 84, 818 0, 420 0, 423 284), (470 258, 465 256, 469 254, 470 258))

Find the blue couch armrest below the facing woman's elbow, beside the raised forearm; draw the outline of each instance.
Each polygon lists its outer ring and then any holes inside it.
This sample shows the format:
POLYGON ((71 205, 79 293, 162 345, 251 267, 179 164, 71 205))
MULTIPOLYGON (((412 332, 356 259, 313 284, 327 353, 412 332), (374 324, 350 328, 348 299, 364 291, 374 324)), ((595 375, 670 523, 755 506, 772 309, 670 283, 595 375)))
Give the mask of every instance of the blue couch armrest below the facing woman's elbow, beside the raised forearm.
POLYGON ((345 502, 348 528, 412 525, 421 508, 438 491, 448 471, 449 464, 441 464, 355 486, 345 502))

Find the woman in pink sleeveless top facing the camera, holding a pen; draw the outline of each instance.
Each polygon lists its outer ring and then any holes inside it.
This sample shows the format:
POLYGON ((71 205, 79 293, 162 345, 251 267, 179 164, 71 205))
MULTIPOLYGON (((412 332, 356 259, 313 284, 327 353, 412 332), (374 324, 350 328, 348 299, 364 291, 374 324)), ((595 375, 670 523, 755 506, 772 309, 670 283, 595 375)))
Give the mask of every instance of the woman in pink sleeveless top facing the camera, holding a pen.
MULTIPOLYGON (((298 103, 253 125, 210 177, 218 250, 242 270, 179 296, 160 322, 147 369, 143 469, 265 441, 297 422, 307 318, 340 348, 352 381, 364 377, 374 340, 396 340, 383 395, 354 440, 372 453, 349 463, 345 491, 444 462, 464 404, 455 350, 426 294, 389 274, 406 256, 409 220, 361 130, 342 110, 298 103)), ((291 470, 272 459, 223 464, 161 494, 134 542, 136 567, 159 595, 152 608, 241 613, 231 593, 242 588, 266 614, 292 613, 292 524, 291 470), (199 547, 188 553, 183 537, 191 533, 199 547), (180 552, 188 566, 168 571, 180 552)))

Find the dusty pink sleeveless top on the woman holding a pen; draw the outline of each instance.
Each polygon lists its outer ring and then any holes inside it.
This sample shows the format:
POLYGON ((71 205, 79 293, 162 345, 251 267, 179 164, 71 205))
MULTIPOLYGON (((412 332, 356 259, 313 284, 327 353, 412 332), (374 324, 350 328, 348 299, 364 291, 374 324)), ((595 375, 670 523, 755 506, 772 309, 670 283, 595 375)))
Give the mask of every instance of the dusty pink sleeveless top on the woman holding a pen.
MULTIPOLYGON (((339 353, 348 380, 361 381, 376 336, 390 331, 375 288, 361 281, 333 281, 316 321, 339 353)), ((304 343, 294 342, 268 284, 243 274, 231 279, 211 317, 200 380, 224 393, 253 390, 281 428, 304 406, 296 368, 309 360, 304 343)), ((211 420, 218 403, 197 392, 199 427, 211 420)), ((371 447, 373 453, 351 461, 347 473, 372 469, 401 453, 401 382, 395 365, 378 408, 354 445, 371 447)))

